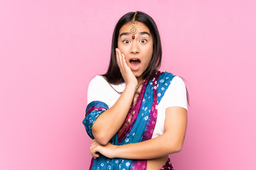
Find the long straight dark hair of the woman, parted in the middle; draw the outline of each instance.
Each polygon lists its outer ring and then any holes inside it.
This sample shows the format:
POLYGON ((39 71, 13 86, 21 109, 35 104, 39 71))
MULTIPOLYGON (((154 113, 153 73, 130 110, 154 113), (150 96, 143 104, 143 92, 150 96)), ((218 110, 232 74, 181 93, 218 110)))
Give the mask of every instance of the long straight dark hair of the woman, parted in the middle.
MULTIPOLYGON (((134 17, 134 13, 135 12, 129 12, 124 14, 124 16, 122 16, 119 19, 119 21, 117 22, 117 25, 114 27, 114 33, 112 36, 112 45, 111 45, 110 65, 107 69, 107 72, 105 74, 102 74, 102 76, 105 77, 107 81, 109 81, 111 84, 120 84, 124 82, 124 79, 122 78, 122 74, 117 65, 115 49, 117 48, 117 40, 118 40, 120 28, 122 28, 122 26, 124 26, 125 23, 132 21, 134 17)), ((151 61, 149 62, 149 66, 146 68, 146 70, 142 74, 142 77, 145 79, 146 77, 151 77, 154 74, 154 72, 156 72, 160 67, 161 55, 162 55, 161 40, 159 36, 159 31, 156 27, 156 23, 151 18, 151 16, 141 11, 137 11, 137 15, 135 16, 135 21, 144 23, 145 26, 149 28, 149 31, 153 38, 153 54, 151 57, 151 61)))

